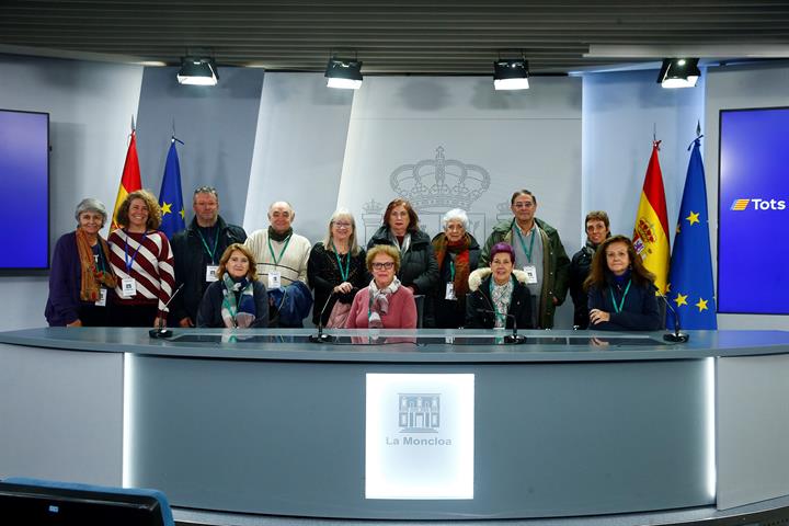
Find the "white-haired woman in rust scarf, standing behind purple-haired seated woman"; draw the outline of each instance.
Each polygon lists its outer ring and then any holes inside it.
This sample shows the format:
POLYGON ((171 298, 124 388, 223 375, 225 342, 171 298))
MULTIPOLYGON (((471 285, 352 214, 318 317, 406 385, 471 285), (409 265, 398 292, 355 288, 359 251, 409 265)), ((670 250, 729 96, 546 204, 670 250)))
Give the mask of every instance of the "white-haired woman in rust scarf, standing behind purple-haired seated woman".
POLYGON ((438 263, 438 286, 432 296, 433 322, 439 329, 457 329, 466 320, 468 278, 477 268, 480 247, 469 233, 465 210, 454 208, 442 219, 444 231, 433 238, 438 263))

